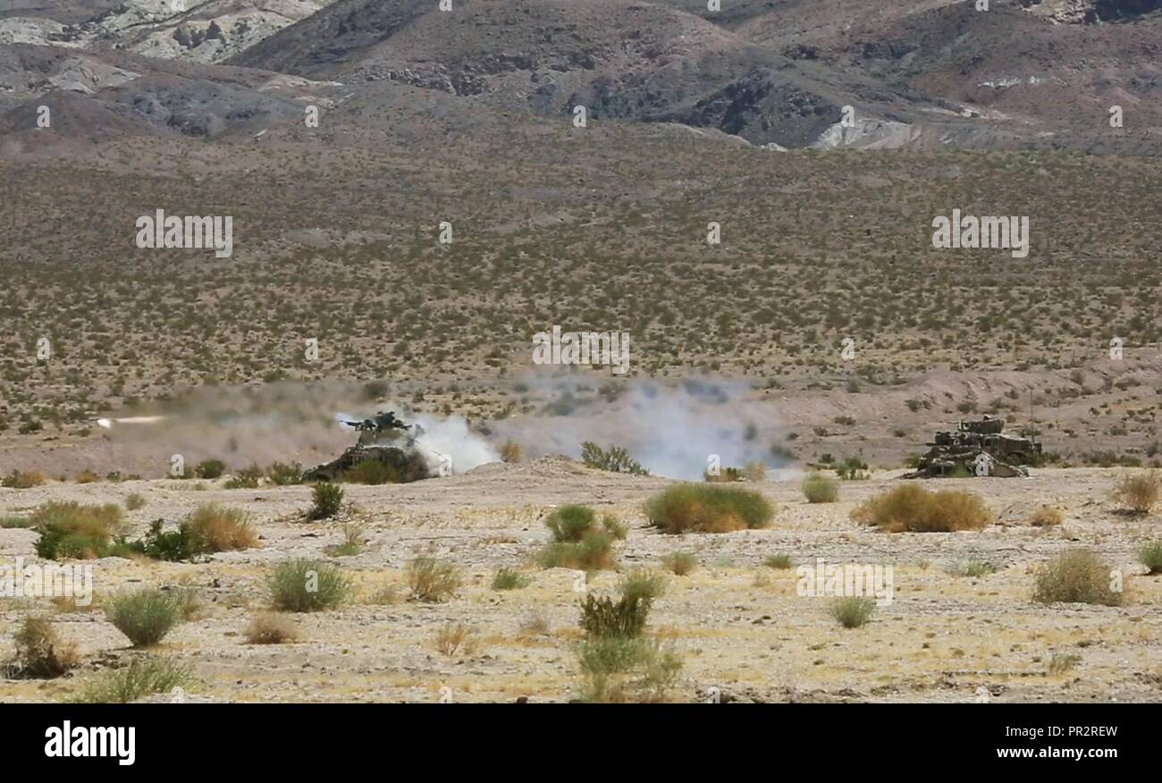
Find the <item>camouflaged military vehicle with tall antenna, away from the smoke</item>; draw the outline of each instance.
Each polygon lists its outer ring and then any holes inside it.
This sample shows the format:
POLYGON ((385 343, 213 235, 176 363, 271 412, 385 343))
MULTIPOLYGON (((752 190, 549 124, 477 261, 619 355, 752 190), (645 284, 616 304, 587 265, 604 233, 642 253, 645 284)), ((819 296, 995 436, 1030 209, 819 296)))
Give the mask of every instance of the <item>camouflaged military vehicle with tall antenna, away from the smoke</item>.
POLYGON ((905 479, 925 476, 1027 476, 1026 465, 1041 457, 1035 438, 1005 434, 1003 419, 985 416, 973 422, 959 422, 955 432, 937 432, 928 451, 920 457, 917 469, 905 479))

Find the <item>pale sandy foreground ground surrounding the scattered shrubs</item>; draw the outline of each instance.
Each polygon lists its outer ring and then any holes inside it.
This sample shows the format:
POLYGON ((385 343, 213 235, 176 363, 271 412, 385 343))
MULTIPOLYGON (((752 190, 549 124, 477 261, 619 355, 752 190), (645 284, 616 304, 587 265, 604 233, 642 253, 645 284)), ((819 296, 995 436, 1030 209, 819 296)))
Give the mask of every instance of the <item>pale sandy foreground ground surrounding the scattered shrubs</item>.
MULTIPOLYGON (((1117 511, 1109 495, 1120 469, 941 480, 940 488, 985 498, 994 523, 978 532, 882 533, 852 522, 854 505, 895 486, 898 473, 845 481, 839 502, 827 504, 806 503, 798 477, 783 474, 751 484, 777 505, 769 529, 683 536, 655 532, 640 510, 667 480, 594 470, 564 458, 488 464, 411 484, 349 486, 339 517, 323 523, 306 520, 310 490, 303 486, 227 490, 221 481, 152 480, 0 489, 2 515, 49 500, 123 503, 136 493, 146 501, 129 513, 137 533, 151 519, 173 519, 211 501, 245 509, 260 533, 257 548, 205 562, 91 561, 96 599, 88 610, 56 609, 46 599, 0 601, 0 656, 12 652, 15 624, 36 610, 55 612, 62 637, 84 656, 83 667, 64 678, 0 681, 0 699, 66 699, 100 669, 165 655, 196 673, 198 685, 185 695, 191 701, 569 701, 578 695, 579 597, 582 590, 612 592, 618 575, 581 579, 581 572, 540 569, 530 560, 547 540, 545 512, 584 503, 629 525, 617 546, 623 572, 659 568, 677 549, 697 554, 690 574, 668 575, 646 630, 672 642, 683 663, 668 701, 1162 701, 1162 577, 1146 576, 1134 554, 1159 537, 1162 522, 1117 511), (1030 526, 1042 504, 1061 509, 1063 524, 1030 526), (363 551, 328 554, 342 539, 340 525, 353 520, 364 524, 363 551), (1124 605, 1031 599, 1038 567, 1074 546, 1093 549, 1124 573, 1124 605), (891 565, 894 601, 867 625, 845 630, 827 612, 826 598, 797 595, 794 568, 763 565, 775 553, 789 554, 796 566, 818 558, 891 565), (422 554, 464 569, 462 587, 450 601, 408 599, 403 569, 422 554), (264 575, 290 556, 330 560, 356 580, 354 598, 336 610, 295 615, 297 641, 246 644, 243 628, 267 602, 264 575), (967 561, 987 561, 996 572, 954 575, 967 561), (524 570, 531 583, 492 589, 493 574, 505 566, 524 570), (99 611, 103 597, 141 586, 186 587, 199 604, 188 622, 144 652, 130 649, 99 611), (392 597, 375 597, 385 594, 392 597), (449 624, 471 631, 452 654, 436 644, 449 624), (1052 661, 1068 656, 1079 658, 1050 671, 1052 661)), ((31 559, 34 539, 28 530, 0 530, 0 555, 31 559)))

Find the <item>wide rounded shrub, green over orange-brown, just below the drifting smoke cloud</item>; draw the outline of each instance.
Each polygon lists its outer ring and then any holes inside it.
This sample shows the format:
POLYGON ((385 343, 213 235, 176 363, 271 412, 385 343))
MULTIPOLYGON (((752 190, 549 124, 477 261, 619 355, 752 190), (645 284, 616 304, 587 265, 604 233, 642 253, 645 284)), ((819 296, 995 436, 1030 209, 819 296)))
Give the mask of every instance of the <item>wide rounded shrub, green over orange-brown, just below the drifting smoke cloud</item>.
POLYGON ((650 524, 666 533, 724 533, 766 527, 774 505, 761 494, 719 484, 675 484, 645 505, 650 524))

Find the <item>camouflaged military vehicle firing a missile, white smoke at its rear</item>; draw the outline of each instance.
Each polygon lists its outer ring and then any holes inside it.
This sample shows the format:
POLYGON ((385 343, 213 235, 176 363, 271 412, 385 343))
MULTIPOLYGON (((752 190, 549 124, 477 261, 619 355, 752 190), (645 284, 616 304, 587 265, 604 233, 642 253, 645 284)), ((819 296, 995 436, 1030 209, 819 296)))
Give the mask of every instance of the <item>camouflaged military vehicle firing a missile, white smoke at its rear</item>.
POLYGON ((424 433, 423 428, 404 424, 395 417, 395 411, 380 411, 361 422, 339 419, 339 423, 358 431, 359 438, 330 462, 304 470, 304 481, 333 481, 363 462, 381 466, 363 469, 375 479, 368 483, 402 483, 451 472, 451 461, 445 455, 417 443, 424 433))

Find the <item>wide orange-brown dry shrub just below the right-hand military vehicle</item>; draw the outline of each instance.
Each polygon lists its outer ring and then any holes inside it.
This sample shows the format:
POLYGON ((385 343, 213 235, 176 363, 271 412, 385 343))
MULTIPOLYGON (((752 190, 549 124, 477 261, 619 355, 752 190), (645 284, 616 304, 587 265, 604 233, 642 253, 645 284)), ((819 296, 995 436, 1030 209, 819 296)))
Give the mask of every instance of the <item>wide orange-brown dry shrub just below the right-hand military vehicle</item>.
POLYGON ((981 530, 991 519, 978 495, 954 489, 930 491, 903 484, 863 501, 852 519, 889 533, 981 530))

